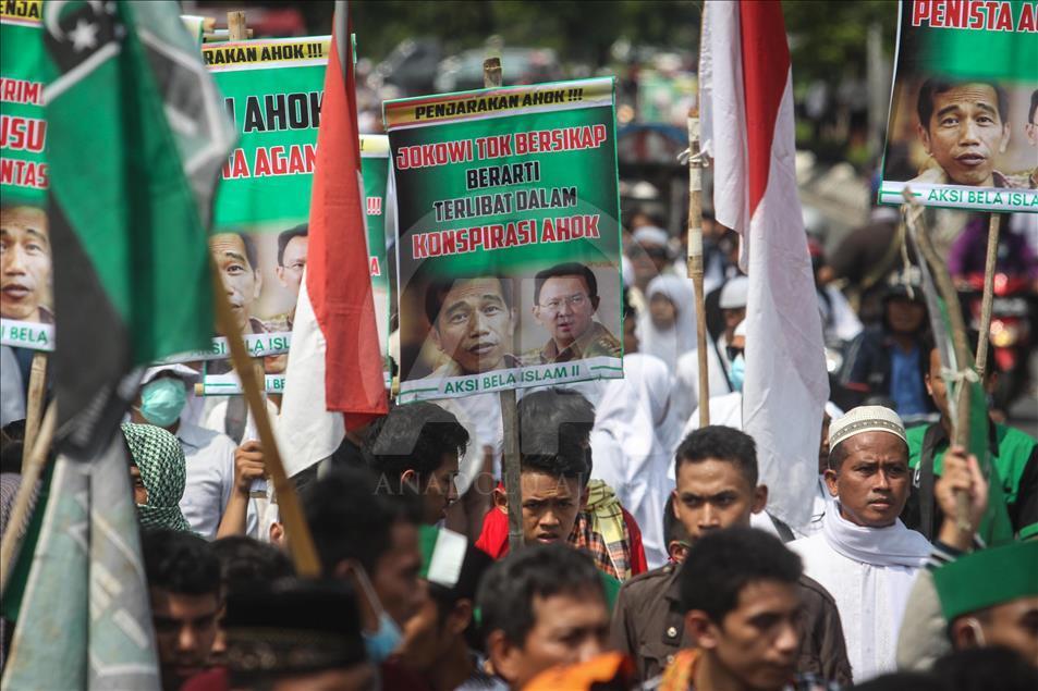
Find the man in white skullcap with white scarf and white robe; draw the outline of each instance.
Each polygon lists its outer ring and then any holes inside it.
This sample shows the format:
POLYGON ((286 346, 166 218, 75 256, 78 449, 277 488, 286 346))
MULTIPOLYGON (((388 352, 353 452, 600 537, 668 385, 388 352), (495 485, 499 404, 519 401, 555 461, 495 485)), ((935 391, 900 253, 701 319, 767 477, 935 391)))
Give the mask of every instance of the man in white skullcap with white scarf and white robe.
POLYGON ((836 510, 790 543, 836 601, 855 682, 894 668, 897 631, 930 544, 897 518, 908 497, 908 444, 897 414, 860 406, 829 427, 825 473, 836 510))

